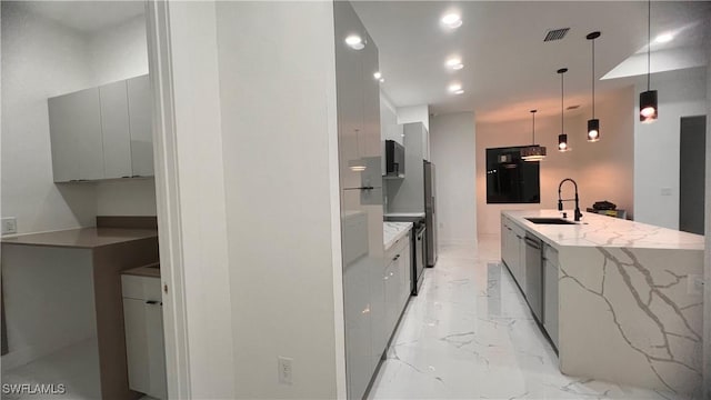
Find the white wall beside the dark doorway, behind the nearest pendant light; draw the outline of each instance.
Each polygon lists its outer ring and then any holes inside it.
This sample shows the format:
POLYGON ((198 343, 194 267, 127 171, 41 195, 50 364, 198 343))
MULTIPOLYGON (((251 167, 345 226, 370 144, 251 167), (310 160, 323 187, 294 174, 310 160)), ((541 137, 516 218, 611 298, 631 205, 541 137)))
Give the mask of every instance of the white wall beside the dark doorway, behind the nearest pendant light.
MULTIPOLYGON (((652 77, 658 90, 659 118, 652 123, 634 119, 634 219, 664 228, 679 228, 680 118, 707 113, 705 71, 691 69, 652 77), (662 189, 671 194, 662 194, 662 189)), ((635 87, 634 116, 639 93, 635 87)))

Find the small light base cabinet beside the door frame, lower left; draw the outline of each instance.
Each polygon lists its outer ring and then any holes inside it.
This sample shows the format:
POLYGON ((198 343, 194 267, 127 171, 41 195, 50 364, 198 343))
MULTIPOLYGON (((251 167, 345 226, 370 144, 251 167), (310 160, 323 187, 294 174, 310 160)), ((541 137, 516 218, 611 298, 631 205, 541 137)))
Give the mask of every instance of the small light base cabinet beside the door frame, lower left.
POLYGON ((160 279, 122 276, 129 387, 168 399, 160 279))

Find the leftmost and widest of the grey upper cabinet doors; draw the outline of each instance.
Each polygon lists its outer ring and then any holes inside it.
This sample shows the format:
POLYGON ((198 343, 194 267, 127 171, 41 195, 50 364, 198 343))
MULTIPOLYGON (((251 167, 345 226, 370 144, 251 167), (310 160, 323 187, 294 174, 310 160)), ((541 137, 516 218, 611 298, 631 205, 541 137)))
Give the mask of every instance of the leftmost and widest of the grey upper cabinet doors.
POLYGON ((99 88, 48 100, 54 182, 103 178, 99 88))

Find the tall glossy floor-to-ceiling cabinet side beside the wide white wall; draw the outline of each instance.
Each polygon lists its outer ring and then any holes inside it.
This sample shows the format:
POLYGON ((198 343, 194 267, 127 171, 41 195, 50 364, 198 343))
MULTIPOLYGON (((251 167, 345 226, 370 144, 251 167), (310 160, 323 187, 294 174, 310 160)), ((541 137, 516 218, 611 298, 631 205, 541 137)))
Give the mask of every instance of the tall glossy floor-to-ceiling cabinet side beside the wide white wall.
MULTIPOLYGON (((360 399, 385 350, 385 286, 378 48, 351 4, 333 3, 342 216, 343 313, 349 399, 360 399), (357 34, 362 49, 346 38, 357 34)), ((394 271, 394 269, 393 269, 394 271)), ((394 284, 394 280, 393 280, 394 284)), ((391 332, 391 330, 390 330, 391 332)))

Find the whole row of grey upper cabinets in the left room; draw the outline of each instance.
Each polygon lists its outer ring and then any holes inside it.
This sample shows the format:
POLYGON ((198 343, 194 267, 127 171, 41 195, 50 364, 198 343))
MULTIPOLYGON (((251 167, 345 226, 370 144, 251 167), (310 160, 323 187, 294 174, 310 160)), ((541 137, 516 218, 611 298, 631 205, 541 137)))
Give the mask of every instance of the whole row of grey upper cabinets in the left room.
POLYGON ((148 76, 48 100, 54 182, 153 176, 148 76))

